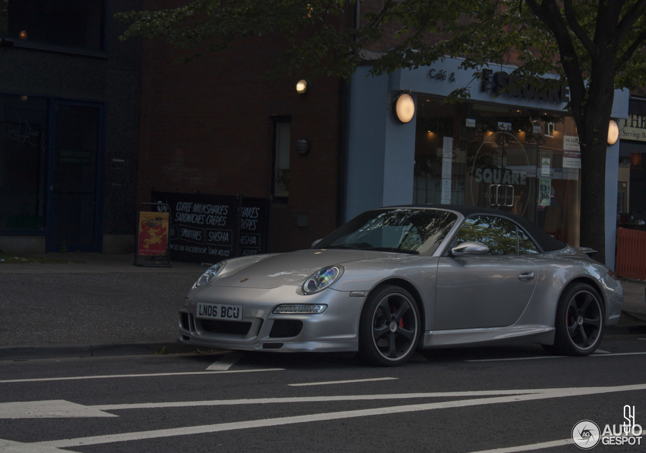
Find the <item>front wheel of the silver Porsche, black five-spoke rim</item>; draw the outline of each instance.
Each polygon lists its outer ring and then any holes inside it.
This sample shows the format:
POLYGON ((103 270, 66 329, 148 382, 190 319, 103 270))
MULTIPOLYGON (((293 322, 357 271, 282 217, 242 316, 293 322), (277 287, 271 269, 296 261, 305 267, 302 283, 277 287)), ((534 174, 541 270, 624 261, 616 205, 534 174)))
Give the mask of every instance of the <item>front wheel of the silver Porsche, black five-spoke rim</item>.
POLYGON ((359 357, 364 363, 398 366, 417 349, 419 308, 404 288, 384 285, 370 292, 359 320, 359 357))

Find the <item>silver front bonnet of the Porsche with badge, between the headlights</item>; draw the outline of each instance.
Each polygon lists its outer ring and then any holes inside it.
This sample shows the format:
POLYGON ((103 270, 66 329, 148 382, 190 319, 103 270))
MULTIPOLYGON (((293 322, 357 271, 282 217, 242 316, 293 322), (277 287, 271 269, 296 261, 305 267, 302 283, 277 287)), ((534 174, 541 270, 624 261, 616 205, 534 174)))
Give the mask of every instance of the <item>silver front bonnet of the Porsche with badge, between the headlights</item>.
MULTIPOLYGON (((240 288, 278 288, 290 283, 300 284, 318 269, 353 261, 379 260, 401 253, 380 251, 307 249, 291 253, 270 255, 263 260, 249 264, 216 278, 211 286, 236 286, 240 288)), ((233 263, 232 263, 233 264, 233 263)))

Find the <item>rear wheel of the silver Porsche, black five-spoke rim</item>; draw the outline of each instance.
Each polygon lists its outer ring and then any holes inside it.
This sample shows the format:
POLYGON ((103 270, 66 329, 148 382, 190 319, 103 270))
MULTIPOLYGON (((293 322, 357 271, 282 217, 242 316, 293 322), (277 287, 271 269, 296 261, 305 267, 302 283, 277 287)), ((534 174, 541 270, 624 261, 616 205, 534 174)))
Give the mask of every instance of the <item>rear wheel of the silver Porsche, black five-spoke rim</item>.
POLYGON ((568 286, 556 307, 554 345, 544 345, 550 353, 590 355, 598 348, 605 325, 603 302, 587 283, 568 286))

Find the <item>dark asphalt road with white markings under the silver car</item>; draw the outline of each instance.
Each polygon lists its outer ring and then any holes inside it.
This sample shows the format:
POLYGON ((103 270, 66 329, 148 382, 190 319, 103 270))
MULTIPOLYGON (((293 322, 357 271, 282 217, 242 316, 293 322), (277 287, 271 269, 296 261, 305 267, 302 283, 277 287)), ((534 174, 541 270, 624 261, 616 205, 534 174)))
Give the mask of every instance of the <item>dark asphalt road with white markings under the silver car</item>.
POLYGON ((576 452, 579 421, 646 426, 644 370, 646 335, 606 337, 590 357, 519 344, 399 368, 315 353, 0 361, 0 450, 576 452))

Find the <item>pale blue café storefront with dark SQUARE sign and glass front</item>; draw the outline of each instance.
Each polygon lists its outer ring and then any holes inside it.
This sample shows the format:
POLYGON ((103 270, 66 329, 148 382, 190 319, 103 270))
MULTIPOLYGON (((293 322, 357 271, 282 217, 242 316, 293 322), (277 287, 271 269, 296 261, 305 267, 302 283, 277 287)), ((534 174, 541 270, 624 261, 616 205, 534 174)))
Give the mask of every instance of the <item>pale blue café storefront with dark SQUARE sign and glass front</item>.
MULTIPOLYGON (((513 68, 485 68, 483 78, 476 79, 459 63, 447 58, 389 76, 373 78, 368 67, 355 74, 346 219, 380 205, 495 207, 578 246, 581 150, 566 110, 568 88, 539 91, 528 83, 507 94, 502 89, 514 81, 513 68), (470 98, 445 103, 459 87, 470 87, 470 98), (408 122, 393 114, 405 95, 415 105, 408 122)), ((624 98, 616 94, 616 118, 626 116, 624 98)), ((609 146, 607 163, 607 179, 614 178, 607 198, 613 203, 617 172, 618 144, 609 146)), ((616 211, 610 211, 614 228, 616 211)))

